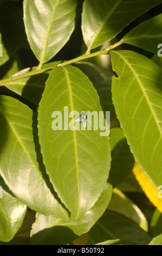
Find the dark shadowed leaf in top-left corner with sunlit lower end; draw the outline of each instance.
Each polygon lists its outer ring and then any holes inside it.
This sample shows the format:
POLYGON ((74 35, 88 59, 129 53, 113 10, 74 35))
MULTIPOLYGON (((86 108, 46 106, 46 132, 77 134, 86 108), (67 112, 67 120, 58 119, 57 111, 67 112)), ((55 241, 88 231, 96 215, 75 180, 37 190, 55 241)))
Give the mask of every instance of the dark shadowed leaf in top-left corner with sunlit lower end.
POLYGON ((2 65, 23 45, 27 38, 24 32, 21 5, 9 2, 1 6, 0 31, 3 47, 3 57, 0 57, 0 65, 2 65))

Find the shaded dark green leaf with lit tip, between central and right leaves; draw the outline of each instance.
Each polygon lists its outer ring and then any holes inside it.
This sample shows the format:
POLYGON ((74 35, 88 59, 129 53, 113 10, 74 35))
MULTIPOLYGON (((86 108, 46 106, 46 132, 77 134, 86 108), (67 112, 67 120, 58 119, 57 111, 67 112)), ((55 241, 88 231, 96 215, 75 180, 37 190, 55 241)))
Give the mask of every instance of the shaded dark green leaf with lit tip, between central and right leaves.
POLYGON ((124 132, 119 127, 112 128, 110 131, 110 146, 112 161, 109 178, 113 182, 113 187, 117 187, 131 173, 134 157, 130 152, 124 132))

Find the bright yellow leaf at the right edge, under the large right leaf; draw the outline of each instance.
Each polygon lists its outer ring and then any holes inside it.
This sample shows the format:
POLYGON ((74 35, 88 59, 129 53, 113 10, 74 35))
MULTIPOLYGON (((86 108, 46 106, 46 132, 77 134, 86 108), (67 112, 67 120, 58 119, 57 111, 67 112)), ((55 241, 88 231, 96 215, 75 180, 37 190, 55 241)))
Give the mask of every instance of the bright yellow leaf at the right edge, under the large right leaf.
MULTIPOLYGON (((145 192, 146 196, 150 200, 150 202, 157 207, 157 209, 162 212, 162 191, 156 188, 152 181, 148 178, 148 176, 142 171, 139 167, 138 163, 135 162, 133 167, 133 174, 135 178, 138 180, 139 185, 142 190, 145 192)), ((161 184, 162 185, 162 184, 161 184)), ((162 189, 162 186, 161 188, 162 189)))

